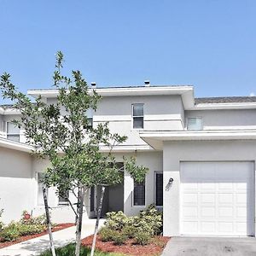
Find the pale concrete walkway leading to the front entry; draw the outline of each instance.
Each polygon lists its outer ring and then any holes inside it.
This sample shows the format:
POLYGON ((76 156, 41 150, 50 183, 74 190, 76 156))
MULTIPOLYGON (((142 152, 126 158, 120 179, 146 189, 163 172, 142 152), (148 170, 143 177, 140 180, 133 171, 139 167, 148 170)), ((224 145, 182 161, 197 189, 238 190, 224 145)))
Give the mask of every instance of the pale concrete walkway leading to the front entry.
MULTIPOLYGON (((100 220, 100 226, 103 225, 104 219, 100 220)), ((96 219, 88 219, 83 222, 82 238, 90 236, 94 232, 96 219)), ((75 241, 76 227, 67 228, 65 230, 53 233, 55 247, 63 247, 68 243, 75 241)), ((31 256, 38 255, 49 248, 49 236, 39 236, 37 238, 22 241, 10 247, 0 249, 1 256, 31 256)))

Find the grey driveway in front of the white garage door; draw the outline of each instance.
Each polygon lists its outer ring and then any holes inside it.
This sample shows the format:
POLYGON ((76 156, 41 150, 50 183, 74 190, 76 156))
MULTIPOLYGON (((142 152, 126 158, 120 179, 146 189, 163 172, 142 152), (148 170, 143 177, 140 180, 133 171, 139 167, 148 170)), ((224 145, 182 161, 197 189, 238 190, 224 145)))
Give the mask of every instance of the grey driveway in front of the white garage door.
POLYGON ((164 256, 255 256, 255 237, 172 237, 164 256))

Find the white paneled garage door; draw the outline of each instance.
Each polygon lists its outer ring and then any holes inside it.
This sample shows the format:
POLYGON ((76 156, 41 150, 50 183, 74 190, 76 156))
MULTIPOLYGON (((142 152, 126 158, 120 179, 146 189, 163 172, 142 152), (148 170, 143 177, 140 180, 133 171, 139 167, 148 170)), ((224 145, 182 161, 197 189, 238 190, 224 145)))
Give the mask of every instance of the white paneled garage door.
POLYGON ((253 236, 253 162, 181 163, 181 234, 253 236))

